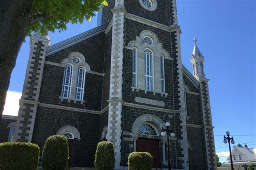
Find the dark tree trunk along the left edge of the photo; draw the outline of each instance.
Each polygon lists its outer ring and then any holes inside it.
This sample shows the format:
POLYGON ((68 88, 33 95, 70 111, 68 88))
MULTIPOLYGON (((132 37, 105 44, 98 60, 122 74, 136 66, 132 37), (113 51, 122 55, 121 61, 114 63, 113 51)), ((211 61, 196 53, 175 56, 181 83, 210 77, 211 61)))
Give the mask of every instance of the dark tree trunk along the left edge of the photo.
MULTIPOLYGON (((2 0, 0 5, 0 118, 12 69, 32 19, 32 0, 2 0)), ((23 82, 16 82, 23 83, 23 82)))

